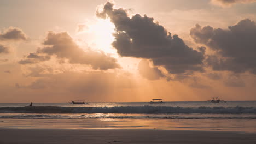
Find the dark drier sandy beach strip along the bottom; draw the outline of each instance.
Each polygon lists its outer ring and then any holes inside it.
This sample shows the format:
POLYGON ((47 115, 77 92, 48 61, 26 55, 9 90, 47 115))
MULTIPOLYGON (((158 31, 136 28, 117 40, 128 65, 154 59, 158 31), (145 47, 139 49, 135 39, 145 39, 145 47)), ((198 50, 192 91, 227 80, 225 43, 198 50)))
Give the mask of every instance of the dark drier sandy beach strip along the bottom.
POLYGON ((154 129, 0 129, 1 144, 256 143, 255 133, 154 129))

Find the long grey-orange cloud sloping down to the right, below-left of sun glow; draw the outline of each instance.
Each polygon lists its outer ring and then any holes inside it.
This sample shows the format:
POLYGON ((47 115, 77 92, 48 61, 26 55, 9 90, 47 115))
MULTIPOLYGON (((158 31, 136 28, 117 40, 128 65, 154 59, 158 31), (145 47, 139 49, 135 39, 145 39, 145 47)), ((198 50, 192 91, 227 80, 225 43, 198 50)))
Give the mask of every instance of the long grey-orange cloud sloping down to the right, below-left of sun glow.
POLYGON ((114 69, 120 68, 117 60, 107 56, 103 52, 81 49, 67 32, 54 33, 49 32, 43 42, 44 47, 37 52, 30 53, 26 59, 21 60, 20 64, 33 64, 42 61, 48 61, 51 56, 58 59, 68 59, 72 64, 87 64, 94 69, 114 69))

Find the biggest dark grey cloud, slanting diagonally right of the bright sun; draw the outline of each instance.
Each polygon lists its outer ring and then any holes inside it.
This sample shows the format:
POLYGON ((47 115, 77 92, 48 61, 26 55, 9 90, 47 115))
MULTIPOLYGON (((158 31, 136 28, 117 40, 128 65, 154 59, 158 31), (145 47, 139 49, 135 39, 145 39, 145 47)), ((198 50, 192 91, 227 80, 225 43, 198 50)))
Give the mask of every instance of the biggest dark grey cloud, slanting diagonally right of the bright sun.
POLYGON ((114 23, 116 32, 112 45, 119 55, 150 59, 155 66, 163 66, 171 74, 203 70, 204 49, 197 51, 188 47, 178 35, 172 36, 153 18, 139 14, 130 18, 125 9, 114 9, 110 2, 96 15, 103 19, 110 17, 114 23))

